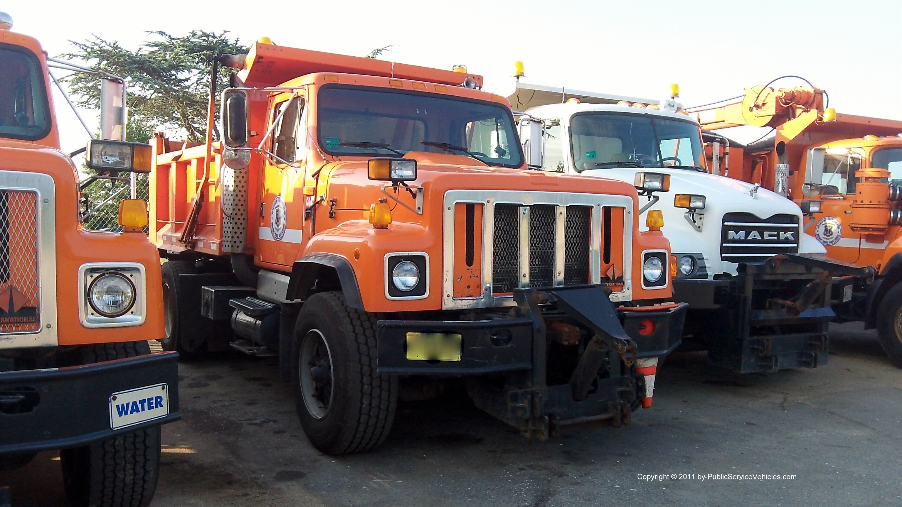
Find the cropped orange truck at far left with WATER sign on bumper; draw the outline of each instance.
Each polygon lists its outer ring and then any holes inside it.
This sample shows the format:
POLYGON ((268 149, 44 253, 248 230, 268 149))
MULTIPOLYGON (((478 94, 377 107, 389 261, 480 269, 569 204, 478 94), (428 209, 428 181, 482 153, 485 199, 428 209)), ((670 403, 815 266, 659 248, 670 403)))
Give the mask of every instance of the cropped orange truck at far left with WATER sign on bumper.
MULTIPOLYGON (((11 28, 0 13, 0 466, 61 449, 70 504, 146 506, 160 425, 179 419, 178 355, 148 346, 163 336, 160 256, 140 201, 120 207, 131 232, 81 226, 49 59, 11 28)), ((101 171, 148 171, 150 159, 147 144, 87 148, 101 171)))

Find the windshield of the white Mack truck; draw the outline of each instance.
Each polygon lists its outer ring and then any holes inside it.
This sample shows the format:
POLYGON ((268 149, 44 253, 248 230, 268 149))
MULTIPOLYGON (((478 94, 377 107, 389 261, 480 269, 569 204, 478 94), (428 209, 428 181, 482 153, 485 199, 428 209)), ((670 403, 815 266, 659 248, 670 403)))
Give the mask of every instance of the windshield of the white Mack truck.
POLYGON ((576 171, 622 167, 704 169, 698 125, 647 114, 574 115, 570 142, 576 171))

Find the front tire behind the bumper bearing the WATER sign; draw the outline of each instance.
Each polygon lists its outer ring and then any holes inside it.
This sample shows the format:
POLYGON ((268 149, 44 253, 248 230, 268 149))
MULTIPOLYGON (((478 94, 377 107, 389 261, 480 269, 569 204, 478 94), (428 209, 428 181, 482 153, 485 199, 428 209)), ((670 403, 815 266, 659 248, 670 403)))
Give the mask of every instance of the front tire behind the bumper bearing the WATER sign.
MULTIPOLYGON (((147 342, 82 347, 83 364, 151 353, 147 342)), ((147 507, 160 469, 160 427, 122 433, 60 452, 63 487, 73 507, 147 507)))

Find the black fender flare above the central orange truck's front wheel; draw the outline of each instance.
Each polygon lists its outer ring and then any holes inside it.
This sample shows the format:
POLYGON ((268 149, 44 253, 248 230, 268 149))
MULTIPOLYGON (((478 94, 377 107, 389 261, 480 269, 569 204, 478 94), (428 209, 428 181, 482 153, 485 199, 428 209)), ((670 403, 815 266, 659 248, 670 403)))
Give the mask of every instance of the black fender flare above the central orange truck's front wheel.
POLYGON ((364 309, 357 275, 345 257, 317 252, 308 253, 294 262, 285 299, 306 300, 310 295, 324 290, 341 290, 347 306, 364 309))

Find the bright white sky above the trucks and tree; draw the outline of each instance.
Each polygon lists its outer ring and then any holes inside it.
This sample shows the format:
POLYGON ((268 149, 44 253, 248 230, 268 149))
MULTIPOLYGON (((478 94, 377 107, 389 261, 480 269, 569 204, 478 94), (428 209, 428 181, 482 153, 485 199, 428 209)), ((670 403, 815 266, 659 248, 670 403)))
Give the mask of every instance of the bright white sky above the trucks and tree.
MULTIPOLYGON (((244 43, 266 35, 360 56, 395 44, 383 59, 442 69, 465 64, 503 95, 516 60, 525 63, 524 80, 540 85, 663 97, 678 83, 686 106, 795 74, 827 90, 842 113, 902 119, 897 1, 19 0, 0 2, 0 10, 51 56, 70 51, 68 40, 93 35, 135 48, 147 39, 144 31, 227 30, 244 43)), ((61 97, 56 106, 63 149, 83 146, 84 129, 61 97)))

